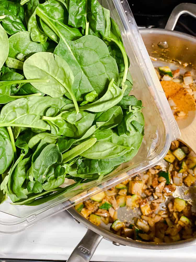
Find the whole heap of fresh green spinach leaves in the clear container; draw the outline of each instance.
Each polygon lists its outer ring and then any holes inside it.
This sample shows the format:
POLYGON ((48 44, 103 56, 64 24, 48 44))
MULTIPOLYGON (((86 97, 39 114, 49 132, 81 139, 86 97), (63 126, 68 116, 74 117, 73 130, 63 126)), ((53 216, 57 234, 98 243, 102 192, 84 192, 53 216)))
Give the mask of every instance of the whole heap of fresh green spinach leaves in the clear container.
POLYGON ((0 1, 0 203, 65 196, 136 155, 144 118, 128 67, 97 0, 0 1))

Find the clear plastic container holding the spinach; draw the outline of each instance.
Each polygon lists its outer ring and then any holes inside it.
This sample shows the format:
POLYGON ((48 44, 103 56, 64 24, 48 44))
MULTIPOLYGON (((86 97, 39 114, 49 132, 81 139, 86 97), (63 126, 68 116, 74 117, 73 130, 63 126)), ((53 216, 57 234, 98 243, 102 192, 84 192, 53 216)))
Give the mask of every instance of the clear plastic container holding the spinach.
POLYGON ((126 52, 130 59, 130 73, 134 80, 132 94, 143 101, 145 135, 138 154, 128 163, 104 177, 102 183, 93 181, 85 187, 64 194, 39 206, 13 206, 9 200, 0 205, 0 232, 20 232, 39 221, 55 215, 91 195, 111 188, 156 165, 167 153, 172 140, 180 132, 151 60, 143 44, 139 30, 126 1, 102 0, 118 23, 126 52))

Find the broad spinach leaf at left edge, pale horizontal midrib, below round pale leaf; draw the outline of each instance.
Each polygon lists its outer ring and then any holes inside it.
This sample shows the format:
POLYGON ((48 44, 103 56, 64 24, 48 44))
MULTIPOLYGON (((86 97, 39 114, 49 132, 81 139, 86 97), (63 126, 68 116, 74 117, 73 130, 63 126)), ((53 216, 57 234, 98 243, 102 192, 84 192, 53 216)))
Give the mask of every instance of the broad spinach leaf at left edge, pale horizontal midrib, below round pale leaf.
POLYGON ((63 100, 49 96, 30 96, 16 99, 5 105, 0 114, 0 126, 19 126, 50 130, 50 126, 40 118, 49 106, 65 105, 63 100))

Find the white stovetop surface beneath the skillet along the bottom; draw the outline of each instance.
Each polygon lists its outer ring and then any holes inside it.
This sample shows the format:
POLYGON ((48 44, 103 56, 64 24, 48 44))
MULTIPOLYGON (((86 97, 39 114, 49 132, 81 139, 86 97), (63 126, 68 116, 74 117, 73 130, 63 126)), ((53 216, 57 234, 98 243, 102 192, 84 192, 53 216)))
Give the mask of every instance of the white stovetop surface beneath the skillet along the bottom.
MULTIPOLYGON (((67 212, 45 219, 17 234, 0 234, 0 258, 66 260, 84 236, 86 228, 67 212)), ((103 239, 92 261, 191 262, 195 246, 173 250, 147 250, 115 246, 103 239)))

